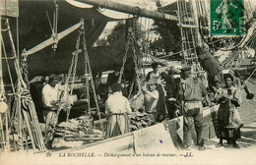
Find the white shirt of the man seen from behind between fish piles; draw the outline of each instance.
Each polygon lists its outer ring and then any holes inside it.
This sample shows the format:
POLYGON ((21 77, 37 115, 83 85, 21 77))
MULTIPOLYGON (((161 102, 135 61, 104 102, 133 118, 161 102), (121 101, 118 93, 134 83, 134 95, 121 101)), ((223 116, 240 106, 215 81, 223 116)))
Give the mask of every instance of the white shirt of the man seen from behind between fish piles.
POLYGON ((131 113, 130 102, 120 91, 110 94, 105 101, 105 111, 108 113, 131 113))

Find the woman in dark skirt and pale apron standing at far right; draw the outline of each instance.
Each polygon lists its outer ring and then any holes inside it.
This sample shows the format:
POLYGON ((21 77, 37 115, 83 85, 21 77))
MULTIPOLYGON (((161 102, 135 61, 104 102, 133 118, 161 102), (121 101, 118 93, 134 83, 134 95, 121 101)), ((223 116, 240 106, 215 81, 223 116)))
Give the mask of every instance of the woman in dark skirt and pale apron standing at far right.
POLYGON ((239 148, 236 139, 241 138, 240 128, 243 125, 236 108, 240 105, 240 93, 233 86, 233 77, 231 75, 224 76, 224 83, 224 88, 218 90, 215 95, 218 103, 221 104, 218 113, 220 143, 217 146, 223 146, 223 139, 226 139, 227 144, 232 144, 233 147, 239 148))

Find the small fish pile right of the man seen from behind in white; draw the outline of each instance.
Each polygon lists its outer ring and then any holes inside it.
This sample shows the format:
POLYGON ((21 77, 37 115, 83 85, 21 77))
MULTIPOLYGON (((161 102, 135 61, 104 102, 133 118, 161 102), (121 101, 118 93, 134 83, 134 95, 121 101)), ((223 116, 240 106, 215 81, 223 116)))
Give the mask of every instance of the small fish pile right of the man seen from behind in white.
POLYGON ((151 116, 147 113, 132 112, 129 115, 130 119, 130 131, 134 132, 143 128, 147 128, 153 125, 151 116))

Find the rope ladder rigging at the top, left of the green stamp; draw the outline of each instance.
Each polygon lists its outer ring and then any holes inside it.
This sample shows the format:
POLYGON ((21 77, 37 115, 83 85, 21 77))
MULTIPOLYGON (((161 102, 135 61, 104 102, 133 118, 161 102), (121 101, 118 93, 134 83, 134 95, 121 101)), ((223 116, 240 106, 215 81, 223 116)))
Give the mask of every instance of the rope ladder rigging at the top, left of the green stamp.
POLYGON ((196 47, 202 45, 198 16, 205 14, 205 11, 206 4, 204 1, 177 0, 178 26, 181 32, 184 66, 198 63, 196 47))

